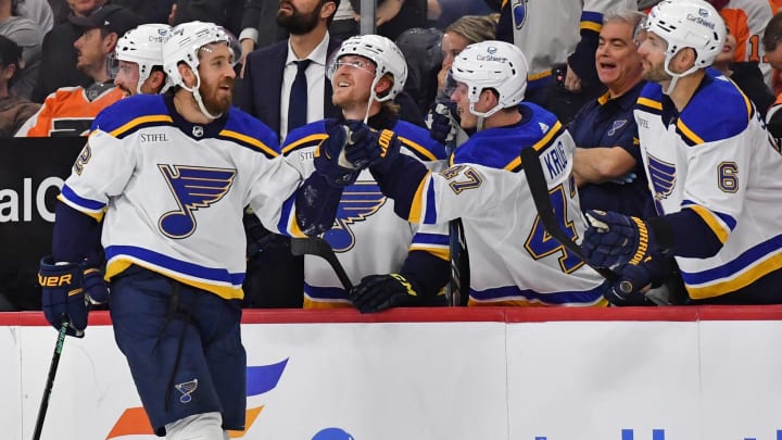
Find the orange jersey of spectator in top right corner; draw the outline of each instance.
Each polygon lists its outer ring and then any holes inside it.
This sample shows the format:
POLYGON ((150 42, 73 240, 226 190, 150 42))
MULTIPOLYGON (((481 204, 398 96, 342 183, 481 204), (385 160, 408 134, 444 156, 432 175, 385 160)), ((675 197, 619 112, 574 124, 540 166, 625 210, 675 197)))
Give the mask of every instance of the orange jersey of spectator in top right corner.
POLYGON ((765 60, 761 39, 780 0, 730 0, 720 10, 728 29, 736 38, 735 61, 757 61, 766 84, 771 86, 772 68, 765 60))

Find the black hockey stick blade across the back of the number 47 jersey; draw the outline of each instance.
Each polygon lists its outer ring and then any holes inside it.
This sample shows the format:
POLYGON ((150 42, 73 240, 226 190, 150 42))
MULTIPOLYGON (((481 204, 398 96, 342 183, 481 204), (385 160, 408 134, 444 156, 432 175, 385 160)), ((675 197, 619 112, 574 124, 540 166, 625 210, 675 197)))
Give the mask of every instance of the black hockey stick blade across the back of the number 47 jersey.
POLYGON ((538 155, 538 151, 535 151, 534 148, 528 147, 521 150, 521 166, 524 167, 525 176, 527 176, 527 185, 532 193, 532 201, 534 202, 535 210, 538 210, 538 216, 543 223, 543 228, 546 232, 567 248, 568 251, 586 263, 586 265, 595 269, 595 272, 601 274, 605 279, 609 281, 618 280, 619 276, 610 268, 596 267, 589 264, 581 247, 572 241, 562 226, 559 226, 559 222, 557 222, 554 216, 554 206, 548 198, 548 185, 546 185, 543 168, 540 165, 540 155, 538 155))

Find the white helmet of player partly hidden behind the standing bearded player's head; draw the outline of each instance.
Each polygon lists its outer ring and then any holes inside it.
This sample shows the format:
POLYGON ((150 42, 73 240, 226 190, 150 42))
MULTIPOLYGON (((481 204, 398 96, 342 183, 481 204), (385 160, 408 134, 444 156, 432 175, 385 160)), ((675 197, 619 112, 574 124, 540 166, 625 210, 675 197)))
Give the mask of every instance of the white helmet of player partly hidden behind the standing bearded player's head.
MULTIPOLYGON (((139 66, 139 81, 136 91, 141 93, 141 85, 152 74, 152 67, 163 68, 163 43, 168 37, 171 26, 157 23, 142 24, 125 33, 114 49, 117 60, 136 63, 139 66)), ((167 87, 161 89, 161 93, 167 87)))

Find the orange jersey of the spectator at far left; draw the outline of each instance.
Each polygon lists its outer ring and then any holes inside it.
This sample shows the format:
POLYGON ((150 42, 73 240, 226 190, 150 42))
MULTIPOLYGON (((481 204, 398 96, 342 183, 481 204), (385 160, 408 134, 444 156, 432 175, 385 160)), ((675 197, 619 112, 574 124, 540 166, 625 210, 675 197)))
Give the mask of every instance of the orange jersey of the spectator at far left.
POLYGON ((38 113, 27 120, 15 136, 86 136, 98 113, 123 97, 116 87, 99 90, 94 97, 91 92, 91 87, 59 88, 47 97, 38 113))

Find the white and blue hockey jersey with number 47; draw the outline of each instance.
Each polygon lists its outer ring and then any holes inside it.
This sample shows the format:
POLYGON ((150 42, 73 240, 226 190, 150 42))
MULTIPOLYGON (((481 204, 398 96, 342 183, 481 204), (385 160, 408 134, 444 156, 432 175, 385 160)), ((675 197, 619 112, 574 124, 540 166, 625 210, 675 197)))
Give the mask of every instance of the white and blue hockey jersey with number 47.
POLYGON ((585 222, 572 178, 576 144, 550 112, 531 103, 521 109, 521 123, 472 135, 449 168, 394 198, 412 200, 411 222, 462 218, 470 305, 605 305, 603 278, 543 228, 519 158, 522 148, 540 152, 556 216, 580 241, 585 222))

